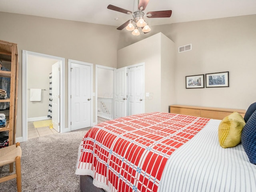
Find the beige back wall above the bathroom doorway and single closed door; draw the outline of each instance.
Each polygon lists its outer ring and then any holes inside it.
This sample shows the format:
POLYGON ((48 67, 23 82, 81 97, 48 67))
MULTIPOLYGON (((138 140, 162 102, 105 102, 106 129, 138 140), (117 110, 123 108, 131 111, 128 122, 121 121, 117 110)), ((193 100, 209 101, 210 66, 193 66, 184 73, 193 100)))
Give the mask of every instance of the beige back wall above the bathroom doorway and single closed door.
POLYGON ((65 127, 68 127, 68 59, 94 64, 94 74, 95 64, 116 68, 120 32, 114 26, 4 12, 0 12, 0 24, 0 39, 18 44, 17 137, 22 136, 22 50, 65 58, 65 127))

